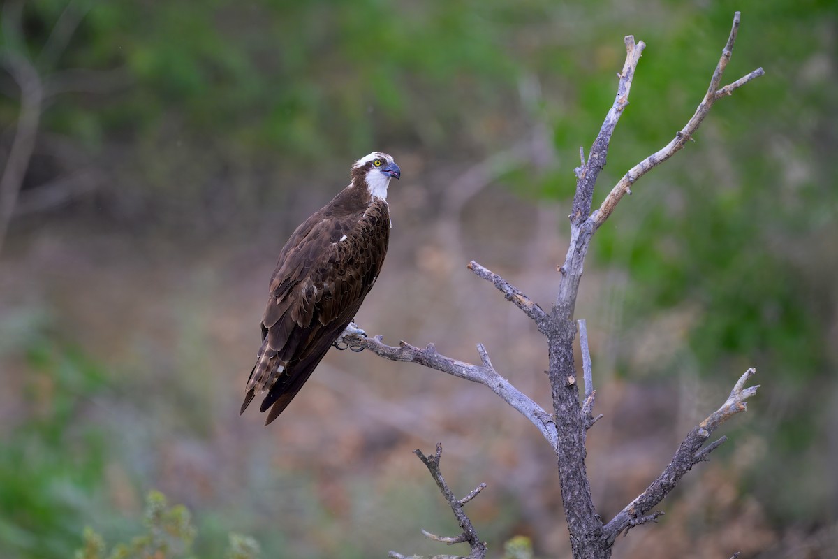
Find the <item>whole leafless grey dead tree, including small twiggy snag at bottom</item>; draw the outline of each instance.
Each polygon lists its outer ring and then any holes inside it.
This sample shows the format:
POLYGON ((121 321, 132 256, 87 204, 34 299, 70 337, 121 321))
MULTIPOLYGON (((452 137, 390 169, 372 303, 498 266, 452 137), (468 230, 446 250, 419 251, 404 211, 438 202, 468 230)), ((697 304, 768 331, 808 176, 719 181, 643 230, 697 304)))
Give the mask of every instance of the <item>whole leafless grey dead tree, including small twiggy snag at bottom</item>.
MULTIPOLYGON (((643 493, 639 494, 636 499, 607 522, 603 522, 597 515, 585 466, 585 439, 587 429, 592 427, 598 417, 593 416, 596 391, 593 390, 593 375, 587 348, 587 332, 582 320, 578 321, 585 385, 582 397, 580 396, 577 370, 573 358, 573 340, 577 334, 574 308, 579 282, 582 280, 585 256, 594 233, 608 220, 608 216, 612 214, 623 195, 631 194, 631 187, 635 181, 652 168, 665 162, 681 148, 684 148, 686 143, 691 141, 693 134, 716 101, 724 96, 731 95, 733 91, 736 91, 748 81, 763 75, 763 69, 759 68, 739 80, 721 86, 722 74, 731 58, 738 29, 739 13, 737 12, 733 17, 733 27, 727 39, 727 44, 722 50, 722 57, 719 59, 710 80, 710 86, 690 121, 680 132, 675 134, 675 137, 664 148, 630 168, 623 175, 623 178, 614 185, 599 208, 592 211, 594 185, 599 173, 605 167, 608 143, 614 127, 617 126, 623 110, 629 105, 629 92, 631 91, 632 80, 634 80, 634 71, 640 60, 640 54, 645 48, 642 41, 635 43, 633 36, 629 35, 625 38, 627 55, 623 70, 618 75, 617 96, 613 106, 605 116, 603 127, 600 129, 597 139, 593 142, 587 161, 583 150, 580 149, 582 162, 575 169, 577 188, 573 198, 571 214, 568 216, 571 222, 571 241, 565 261, 558 267, 560 273, 558 292, 549 312, 533 302, 518 288, 510 285, 510 282, 504 280, 503 277, 487 270, 475 261, 468 264, 468 268, 478 277, 492 282, 494 287, 504 293, 504 297, 508 301, 515 303, 518 308, 526 313, 535 322, 539 332, 546 336, 550 355, 549 372, 553 414, 543 410, 541 406, 538 406, 529 396, 517 390, 503 375, 495 370, 483 344, 477 346, 480 364, 475 365, 441 355, 433 344, 428 344, 427 347, 421 349, 404 341, 395 347, 386 345, 382 342, 381 336, 369 339, 354 336, 344 339, 350 345, 369 349, 385 359, 424 365, 449 375, 488 386, 495 394, 529 419, 550 443, 558 458, 561 499, 564 505, 567 529, 570 532, 572 553, 575 558, 610 557, 617 536, 629 531, 636 525, 657 520, 662 513, 655 511, 654 508, 675 488, 679 480, 693 466, 706 460, 713 450, 724 443, 725 437, 720 437, 716 441, 706 444, 711 434, 716 431, 722 422, 746 409, 745 400, 753 396, 758 388, 758 386, 746 387, 747 380, 756 372, 753 369, 747 370, 737 380, 730 396, 727 397, 727 401, 687 434, 683 442, 680 443, 680 447, 675 451, 672 461, 643 493)), ((471 494, 462 499, 457 499, 448 489, 445 480, 442 479, 442 473, 439 469, 441 453, 442 448, 440 446, 437 446, 437 452, 432 457, 426 457, 422 452, 416 451, 417 456, 422 459, 432 477, 437 481, 437 485, 447 499, 448 505, 451 506, 454 515, 457 516, 459 524, 463 528, 463 533, 452 537, 433 536, 427 533, 426 536, 447 544, 468 542, 468 545, 471 546, 469 558, 484 557, 486 555, 485 543, 478 538, 471 521, 463 512, 463 505, 473 499, 484 486, 480 485, 471 494)), ((405 557, 395 551, 391 551, 390 556, 405 557)), ((437 557, 453 558, 453 556, 437 557)))

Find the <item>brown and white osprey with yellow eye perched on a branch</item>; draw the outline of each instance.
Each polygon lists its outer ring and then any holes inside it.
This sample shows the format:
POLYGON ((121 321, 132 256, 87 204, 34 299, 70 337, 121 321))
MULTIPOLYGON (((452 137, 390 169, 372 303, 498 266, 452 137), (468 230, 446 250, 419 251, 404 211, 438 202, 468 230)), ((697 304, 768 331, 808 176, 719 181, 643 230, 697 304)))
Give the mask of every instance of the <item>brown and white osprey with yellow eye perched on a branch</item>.
POLYGON ((370 292, 390 239, 387 186, 401 169, 386 153, 354 163, 349 183, 294 230, 282 247, 262 317, 262 344, 247 381, 244 413, 272 422, 292 401, 370 292))

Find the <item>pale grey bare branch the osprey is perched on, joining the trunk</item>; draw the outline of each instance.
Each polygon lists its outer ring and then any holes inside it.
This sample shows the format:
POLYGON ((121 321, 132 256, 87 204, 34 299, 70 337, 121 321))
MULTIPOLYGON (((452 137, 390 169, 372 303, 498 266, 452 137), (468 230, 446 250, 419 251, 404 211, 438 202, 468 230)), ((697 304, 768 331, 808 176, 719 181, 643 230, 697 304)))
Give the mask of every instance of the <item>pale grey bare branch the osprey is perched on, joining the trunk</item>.
POLYGON ((380 336, 365 338, 358 334, 346 334, 343 341, 352 346, 369 349, 375 355, 385 359, 416 363, 429 369, 441 370, 443 373, 488 386, 491 391, 529 419, 538 428, 541 435, 547 439, 550 446, 554 450, 556 449, 558 436, 556 434, 556 423, 553 422, 551 415, 535 401, 532 401, 529 396, 512 386, 510 381, 504 379, 498 371, 494 370, 491 361, 489 361, 489 355, 482 344, 478 347, 478 351, 481 353, 484 365, 473 365, 441 355, 433 344, 428 344, 425 349, 419 349, 401 341, 398 347, 394 347, 384 344, 380 336))

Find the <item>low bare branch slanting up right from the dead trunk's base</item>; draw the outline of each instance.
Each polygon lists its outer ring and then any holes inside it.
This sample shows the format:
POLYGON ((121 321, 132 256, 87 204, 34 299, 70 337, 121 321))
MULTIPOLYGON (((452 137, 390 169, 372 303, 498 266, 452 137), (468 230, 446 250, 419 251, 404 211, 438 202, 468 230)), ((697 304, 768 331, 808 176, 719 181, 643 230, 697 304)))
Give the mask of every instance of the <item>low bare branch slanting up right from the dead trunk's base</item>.
POLYGON ((703 422, 699 423, 680 443, 680 447, 672 457, 672 461, 664 471, 649 485, 646 490, 639 494, 629 505, 614 516, 603 528, 603 536, 608 540, 609 545, 620 535, 621 532, 629 529, 637 519, 643 517, 649 510, 652 510, 662 501, 680 479, 689 472, 696 463, 706 460, 707 454, 718 448, 725 439, 722 437, 707 448, 699 451, 706 443, 707 438, 716 430, 722 422, 740 411, 745 411, 745 400, 757 393, 758 386, 745 388, 745 383, 750 379, 756 370, 748 369, 745 374, 737 380, 727 401, 718 410, 714 411, 703 422))

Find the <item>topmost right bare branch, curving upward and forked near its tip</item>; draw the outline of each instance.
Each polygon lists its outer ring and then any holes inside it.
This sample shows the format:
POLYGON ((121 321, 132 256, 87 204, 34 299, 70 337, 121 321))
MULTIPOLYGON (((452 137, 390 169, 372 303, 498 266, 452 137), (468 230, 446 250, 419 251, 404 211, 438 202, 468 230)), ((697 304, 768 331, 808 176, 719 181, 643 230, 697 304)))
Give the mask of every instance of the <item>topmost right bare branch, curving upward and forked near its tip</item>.
POLYGON ((619 180, 614 188, 611 189, 611 192, 608 193, 608 196, 605 197, 603 204, 601 204, 599 209, 591 215, 590 219, 594 229, 598 229, 600 225, 603 225, 605 220, 608 220, 608 216, 611 215, 620 199, 623 198, 624 194, 631 194, 630 187, 637 179, 642 177, 644 174, 649 173, 650 170, 660 165, 660 163, 664 163, 667 159, 675 155, 676 152, 684 148, 686 142, 692 139, 692 135, 695 134, 698 127, 701 126, 701 122, 704 121, 705 116, 707 116, 710 112, 710 109, 716 99, 729 95, 733 90, 765 73, 762 68, 753 70, 750 74, 733 82, 731 85, 726 85, 722 88, 722 90, 719 90, 719 84, 722 82, 722 74, 724 74, 725 68, 727 68, 727 62, 731 59, 733 44, 736 42, 736 36, 739 30, 739 18, 740 13, 735 13, 733 16, 731 34, 727 38, 725 48, 722 49, 722 57, 716 65, 716 70, 713 71, 710 86, 707 87, 706 95, 704 96, 704 99, 701 100, 698 108, 696 108, 696 112, 693 114, 690 121, 686 123, 685 127, 681 128, 680 132, 675 134, 672 141, 666 144, 664 148, 652 153, 648 158, 645 158, 633 168, 630 168, 629 172, 623 175, 623 178, 619 180))

